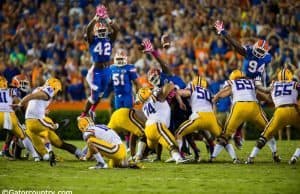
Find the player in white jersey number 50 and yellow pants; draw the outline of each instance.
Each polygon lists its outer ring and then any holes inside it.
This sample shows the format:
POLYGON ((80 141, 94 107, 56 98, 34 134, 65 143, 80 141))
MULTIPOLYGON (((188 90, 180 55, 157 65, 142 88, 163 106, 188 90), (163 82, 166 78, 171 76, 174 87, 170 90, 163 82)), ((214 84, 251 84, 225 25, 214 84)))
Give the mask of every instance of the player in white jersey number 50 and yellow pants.
POLYGON ((213 111, 212 97, 207 85, 205 78, 196 76, 186 89, 177 91, 180 96, 190 96, 190 106, 192 108, 189 120, 183 122, 176 131, 179 150, 182 147, 182 138, 194 131, 208 130, 215 137, 219 137, 222 132, 213 111))

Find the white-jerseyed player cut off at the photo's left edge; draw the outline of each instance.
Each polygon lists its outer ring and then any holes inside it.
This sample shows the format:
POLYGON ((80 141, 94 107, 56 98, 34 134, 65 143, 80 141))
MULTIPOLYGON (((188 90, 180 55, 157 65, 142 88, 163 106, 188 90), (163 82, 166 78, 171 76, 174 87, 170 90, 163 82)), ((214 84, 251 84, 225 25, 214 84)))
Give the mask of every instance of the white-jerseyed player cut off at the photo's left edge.
POLYGON ((12 131, 13 134, 22 140, 25 148, 32 154, 34 160, 38 161, 39 156, 34 150, 30 139, 23 132, 12 108, 12 105, 18 101, 17 89, 8 88, 7 80, 0 76, 0 128, 12 131))

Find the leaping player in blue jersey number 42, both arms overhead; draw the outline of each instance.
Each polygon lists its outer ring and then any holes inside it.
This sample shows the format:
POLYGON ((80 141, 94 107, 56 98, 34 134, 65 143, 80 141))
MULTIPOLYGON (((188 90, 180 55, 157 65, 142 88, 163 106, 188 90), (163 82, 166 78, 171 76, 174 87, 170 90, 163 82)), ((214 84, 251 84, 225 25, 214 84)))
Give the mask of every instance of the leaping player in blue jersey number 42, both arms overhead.
POLYGON ((95 17, 86 28, 86 38, 89 43, 89 52, 93 65, 86 77, 91 88, 91 96, 88 98, 82 116, 87 115, 92 106, 92 111, 96 109, 110 82, 111 72, 109 65, 112 44, 117 37, 118 31, 118 26, 108 17, 105 6, 98 6, 95 17))

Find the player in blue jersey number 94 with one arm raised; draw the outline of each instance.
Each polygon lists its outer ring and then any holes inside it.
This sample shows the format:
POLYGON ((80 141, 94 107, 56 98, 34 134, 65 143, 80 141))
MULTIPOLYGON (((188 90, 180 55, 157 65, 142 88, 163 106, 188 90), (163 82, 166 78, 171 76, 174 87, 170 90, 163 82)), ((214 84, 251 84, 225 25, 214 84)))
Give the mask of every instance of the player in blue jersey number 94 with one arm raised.
POLYGON ((225 38, 239 54, 245 57, 242 67, 244 74, 251 79, 261 77, 265 72, 266 65, 272 60, 271 54, 268 53, 270 49, 268 43, 260 39, 252 46, 242 46, 225 31, 222 21, 217 20, 214 28, 217 34, 225 38))

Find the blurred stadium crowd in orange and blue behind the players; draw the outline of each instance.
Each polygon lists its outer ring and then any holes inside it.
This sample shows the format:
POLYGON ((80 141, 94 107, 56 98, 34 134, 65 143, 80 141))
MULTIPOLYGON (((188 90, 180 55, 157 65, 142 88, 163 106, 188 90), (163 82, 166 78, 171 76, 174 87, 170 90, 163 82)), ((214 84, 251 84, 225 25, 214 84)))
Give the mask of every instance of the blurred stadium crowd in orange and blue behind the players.
POLYGON ((243 58, 211 30, 217 19, 224 20, 228 32, 242 44, 252 44, 257 38, 269 42, 273 56, 269 77, 291 64, 300 78, 300 4, 287 0, 4 1, 0 74, 10 82, 14 75, 25 73, 33 87, 56 76, 67 83, 62 100, 86 99, 89 91, 84 77, 91 62, 84 30, 99 3, 107 3, 121 29, 114 51, 127 51, 141 80, 156 62, 141 53, 139 44, 149 38, 159 48, 161 35, 168 33, 173 45, 166 52, 158 51, 175 74, 185 82, 199 74, 211 84, 223 83, 243 58))

